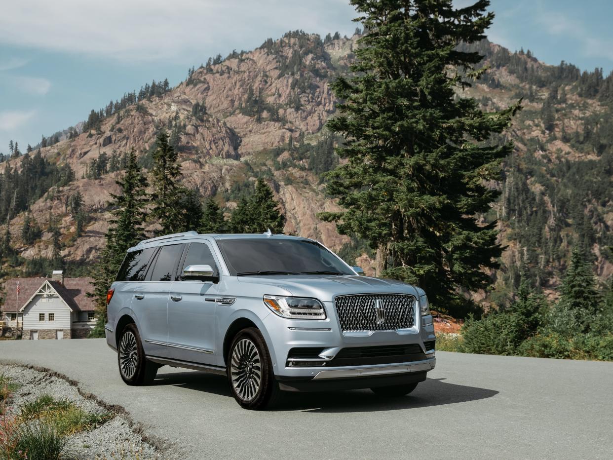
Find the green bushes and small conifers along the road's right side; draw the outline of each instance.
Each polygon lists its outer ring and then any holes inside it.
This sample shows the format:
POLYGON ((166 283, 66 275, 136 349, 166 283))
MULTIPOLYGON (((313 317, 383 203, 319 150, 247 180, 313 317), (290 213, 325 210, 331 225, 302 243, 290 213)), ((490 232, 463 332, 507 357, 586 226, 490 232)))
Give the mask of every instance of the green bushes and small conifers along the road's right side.
POLYGON ((551 309, 524 272, 516 301, 462 328, 459 351, 537 358, 613 360, 613 299, 595 286, 592 264, 575 249, 551 309))

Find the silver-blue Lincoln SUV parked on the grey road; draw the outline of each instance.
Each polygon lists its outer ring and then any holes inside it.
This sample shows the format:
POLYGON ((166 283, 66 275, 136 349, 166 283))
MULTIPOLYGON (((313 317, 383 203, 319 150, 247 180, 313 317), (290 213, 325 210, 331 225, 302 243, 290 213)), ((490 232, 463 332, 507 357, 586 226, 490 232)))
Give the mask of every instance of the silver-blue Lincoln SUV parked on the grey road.
POLYGON ((422 289, 360 276, 321 243, 186 232, 128 250, 107 294, 128 385, 164 365, 226 375, 242 407, 283 391, 408 394, 436 359, 422 289))

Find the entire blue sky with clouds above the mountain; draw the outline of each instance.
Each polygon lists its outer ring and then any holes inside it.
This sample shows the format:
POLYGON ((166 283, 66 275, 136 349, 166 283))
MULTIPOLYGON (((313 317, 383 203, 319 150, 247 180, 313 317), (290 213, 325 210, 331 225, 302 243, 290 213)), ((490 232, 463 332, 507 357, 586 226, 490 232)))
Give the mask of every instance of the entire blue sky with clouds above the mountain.
MULTIPOLYGON (((457 6, 470 0, 454 0, 457 6)), ((613 69, 613 2, 492 0, 493 42, 546 63, 613 69)), ((251 50, 289 29, 351 35, 348 0, 20 0, 0 15, 0 151, 75 125, 152 79, 251 50)))

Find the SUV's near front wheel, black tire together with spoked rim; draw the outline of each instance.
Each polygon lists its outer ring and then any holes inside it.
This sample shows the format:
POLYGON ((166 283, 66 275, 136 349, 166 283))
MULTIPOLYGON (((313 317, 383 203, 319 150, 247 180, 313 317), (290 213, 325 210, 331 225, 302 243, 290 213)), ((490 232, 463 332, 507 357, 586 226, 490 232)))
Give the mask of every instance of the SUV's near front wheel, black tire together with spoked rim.
POLYGON ((235 335, 226 362, 230 391, 241 407, 262 410, 280 401, 272 359, 258 329, 246 328, 235 335))

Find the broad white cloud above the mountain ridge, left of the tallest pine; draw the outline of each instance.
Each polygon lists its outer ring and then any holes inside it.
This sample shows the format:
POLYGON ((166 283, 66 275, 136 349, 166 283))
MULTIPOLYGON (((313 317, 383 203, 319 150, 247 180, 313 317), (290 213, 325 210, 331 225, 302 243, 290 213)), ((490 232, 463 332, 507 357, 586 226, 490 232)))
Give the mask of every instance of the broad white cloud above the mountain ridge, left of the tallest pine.
POLYGON ((329 0, 26 0, 6 2, 0 42, 121 60, 194 56, 266 36, 275 27, 353 31, 355 12, 329 0), (24 27, 28 24, 28 27, 24 27), (344 29, 344 30, 343 30, 344 29))

